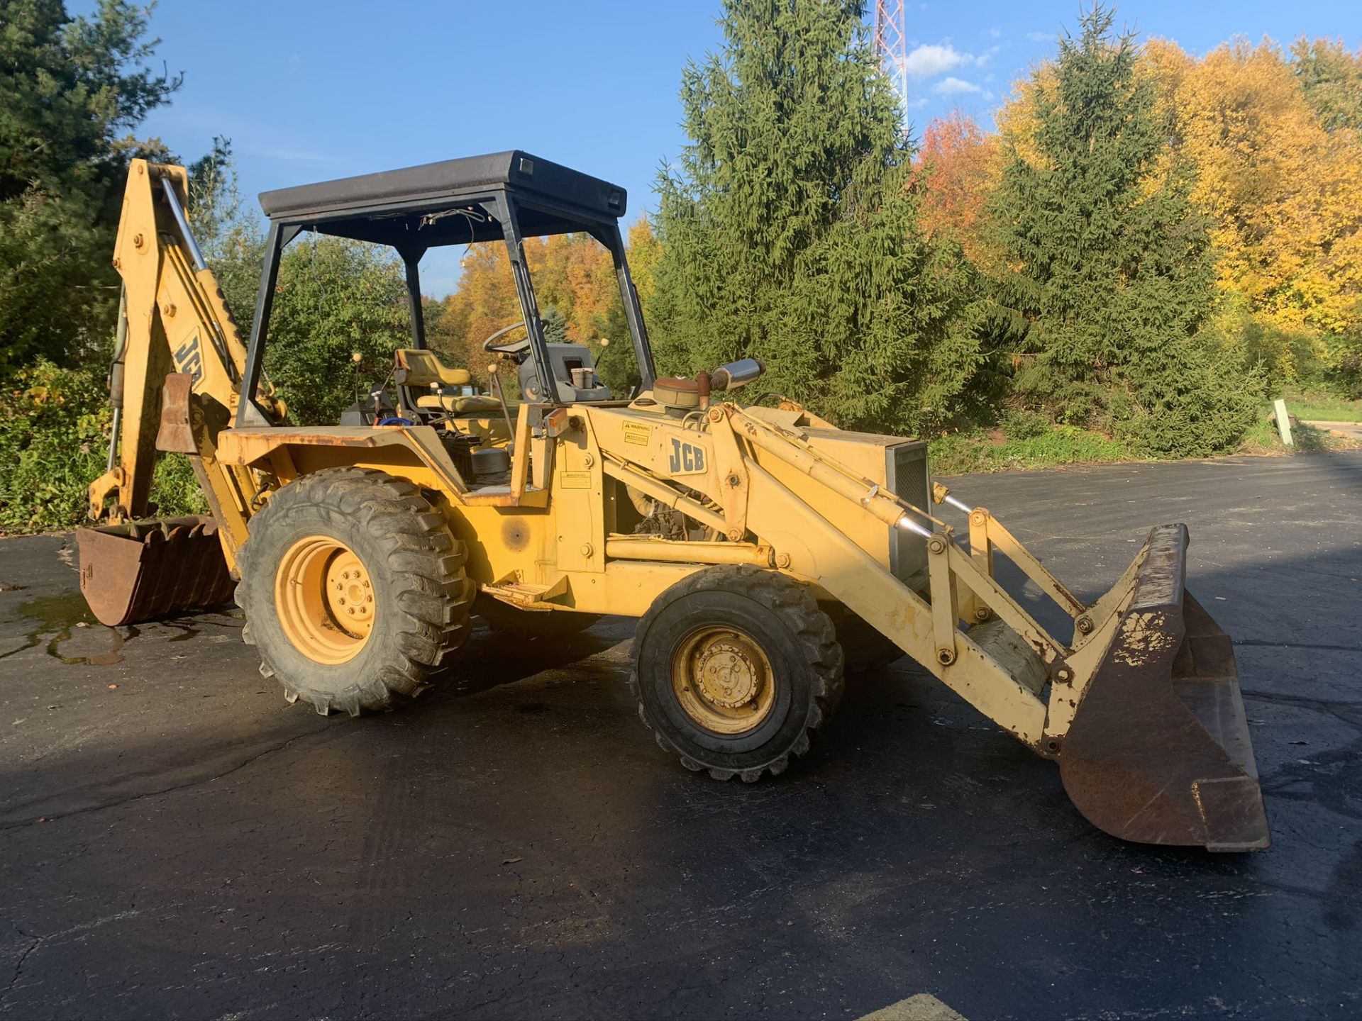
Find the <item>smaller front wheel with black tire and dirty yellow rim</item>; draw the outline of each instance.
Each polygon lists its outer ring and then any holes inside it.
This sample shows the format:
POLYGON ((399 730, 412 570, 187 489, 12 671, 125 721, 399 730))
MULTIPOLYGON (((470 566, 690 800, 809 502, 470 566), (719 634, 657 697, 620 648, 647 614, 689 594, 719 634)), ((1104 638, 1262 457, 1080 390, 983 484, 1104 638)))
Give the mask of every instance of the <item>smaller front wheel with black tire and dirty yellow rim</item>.
POLYGON ((842 648, 809 591, 755 566, 666 589, 639 621, 639 716, 686 769, 753 783, 809 750, 842 696, 842 648))

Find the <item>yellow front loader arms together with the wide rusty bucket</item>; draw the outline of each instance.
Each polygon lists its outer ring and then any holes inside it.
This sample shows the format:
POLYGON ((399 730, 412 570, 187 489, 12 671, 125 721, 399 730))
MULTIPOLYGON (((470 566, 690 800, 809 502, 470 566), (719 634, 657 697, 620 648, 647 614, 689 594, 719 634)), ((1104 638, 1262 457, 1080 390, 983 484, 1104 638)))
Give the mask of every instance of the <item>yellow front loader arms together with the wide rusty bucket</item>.
POLYGON ((810 433, 825 430, 725 403, 703 414, 703 427, 659 422, 662 436, 646 453, 612 442, 627 429, 602 425, 612 475, 727 539, 674 543, 686 547, 677 558, 770 564, 820 600, 842 603, 1032 751, 1057 760, 1075 806, 1100 829, 1215 851, 1268 845, 1234 651, 1186 592, 1184 525, 1154 528, 1115 585, 1088 604, 986 509, 934 487, 937 504, 968 516, 966 543, 930 506, 820 448, 810 433), (673 460, 666 478, 655 452, 669 442, 695 449, 695 471, 673 460), (922 543, 925 584, 907 584, 854 538, 866 523, 922 543), (726 547, 746 560, 718 555, 726 547), (996 553, 1072 619, 1072 636, 1049 633, 1002 588, 996 553))

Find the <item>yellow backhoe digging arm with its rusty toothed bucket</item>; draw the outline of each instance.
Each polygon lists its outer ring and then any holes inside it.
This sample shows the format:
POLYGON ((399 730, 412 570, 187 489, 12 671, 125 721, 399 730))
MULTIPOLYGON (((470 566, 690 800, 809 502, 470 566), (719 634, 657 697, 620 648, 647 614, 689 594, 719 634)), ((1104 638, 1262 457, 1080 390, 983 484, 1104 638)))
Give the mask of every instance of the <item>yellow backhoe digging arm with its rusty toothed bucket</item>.
MULTIPOLYGON (((89 490, 98 524, 78 536, 82 589, 105 623, 230 598, 236 551, 267 482, 217 457, 218 432, 240 400, 245 346, 189 230, 187 193, 183 167, 132 161, 113 255, 123 302, 109 470, 89 490), (139 523, 153 510, 158 451, 188 456, 211 516, 139 523)), ((282 421, 281 403, 260 400, 282 421)))

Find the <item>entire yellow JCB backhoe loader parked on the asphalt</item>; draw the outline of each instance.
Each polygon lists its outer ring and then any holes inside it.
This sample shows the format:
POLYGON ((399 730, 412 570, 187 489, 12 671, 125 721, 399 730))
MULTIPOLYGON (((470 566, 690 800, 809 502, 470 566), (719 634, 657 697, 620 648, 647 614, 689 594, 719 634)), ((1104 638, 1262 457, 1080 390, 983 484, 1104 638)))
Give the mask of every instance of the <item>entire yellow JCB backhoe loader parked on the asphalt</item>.
POLYGON ((79 535, 102 622, 234 595, 290 701, 358 715, 458 670, 473 613, 519 634, 633 615, 643 722, 686 768, 746 781, 809 749, 847 664, 907 653, 1056 760, 1107 833, 1268 845, 1234 652, 1185 588, 1184 525, 1154 528, 1086 603, 986 509, 932 485, 921 441, 789 402, 745 407, 733 395, 764 370, 753 359, 658 378, 624 189, 527 152, 262 195, 249 340, 193 241, 185 185, 180 167, 135 161, 123 206, 116 427, 79 535), (281 253, 305 230, 390 245, 406 267, 410 347, 392 388, 340 423, 291 423, 262 368, 281 253), (588 346, 545 336, 524 238, 569 231, 613 257, 631 393, 601 383, 588 346), (505 244, 522 314, 485 343, 493 396, 428 350, 419 291, 428 249, 486 241, 505 244), (143 520, 158 449, 188 455, 210 515, 143 520), (998 584, 996 557, 1072 636, 998 584))

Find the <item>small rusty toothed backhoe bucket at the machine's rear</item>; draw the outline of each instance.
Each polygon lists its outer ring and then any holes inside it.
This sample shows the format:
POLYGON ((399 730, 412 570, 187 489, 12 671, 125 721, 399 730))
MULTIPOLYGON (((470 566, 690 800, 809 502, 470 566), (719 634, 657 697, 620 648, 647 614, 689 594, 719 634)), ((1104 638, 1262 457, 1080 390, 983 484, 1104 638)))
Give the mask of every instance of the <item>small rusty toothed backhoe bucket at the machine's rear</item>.
POLYGON ((116 628, 232 602, 211 517, 78 528, 80 592, 99 623, 116 628))

